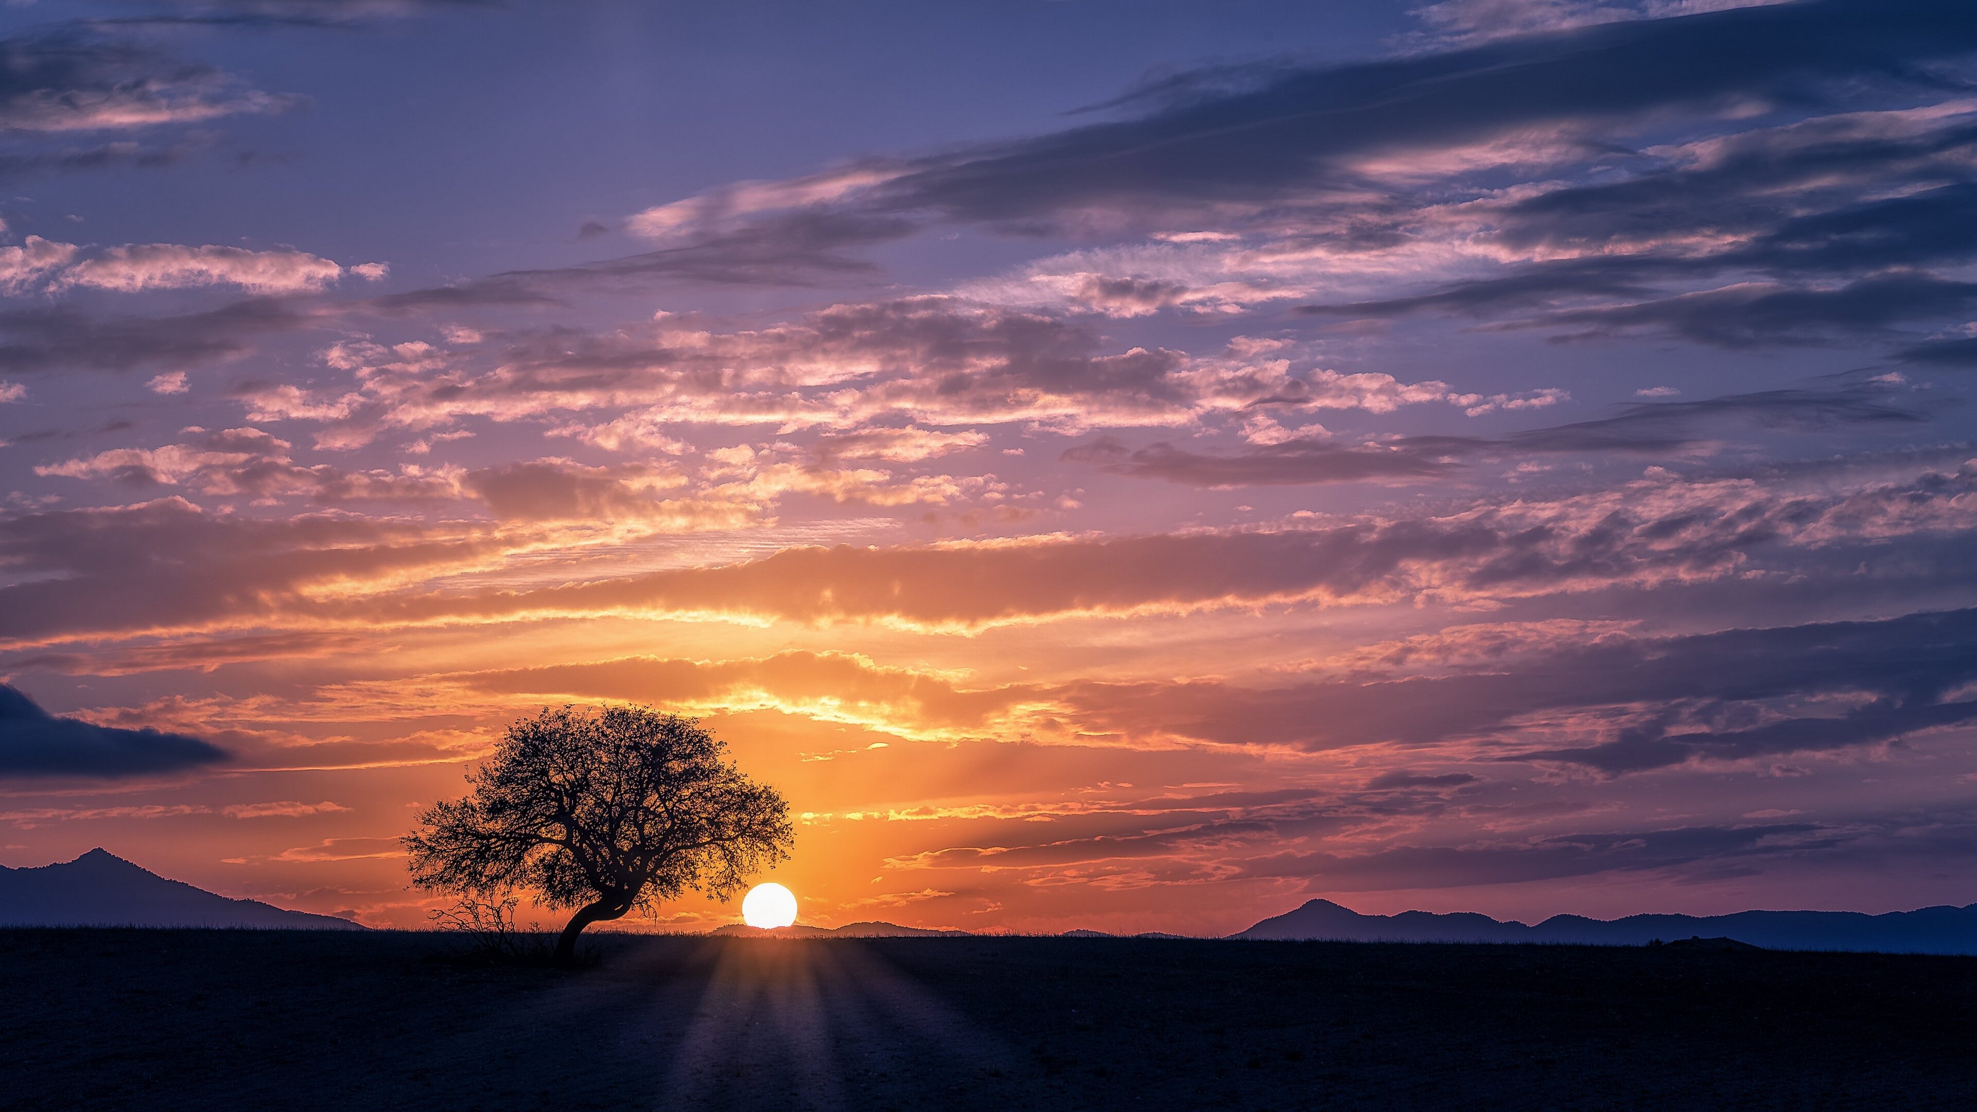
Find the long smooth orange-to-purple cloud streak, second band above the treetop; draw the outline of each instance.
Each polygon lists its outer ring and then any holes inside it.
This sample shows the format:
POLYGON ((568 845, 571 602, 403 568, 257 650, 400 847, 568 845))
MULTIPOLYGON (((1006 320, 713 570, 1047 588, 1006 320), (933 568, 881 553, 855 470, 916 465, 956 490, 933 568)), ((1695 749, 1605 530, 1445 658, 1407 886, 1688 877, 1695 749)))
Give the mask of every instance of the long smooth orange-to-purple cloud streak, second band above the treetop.
MULTIPOLYGON (((376 600, 372 621, 589 613, 983 627, 1089 613, 1265 603, 1479 602, 1728 576, 1835 574, 1892 536, 1957 538, 1977 473, 1801 495, 1752 481, 1641 481, 1329 528, 1058 538, 927 548, 787 548, 728 566, 484 594, 376 600), (1831 552, 1827 552, 1831 550, 1831 552), (1793 572, 1785 572, 1791 568, 1793 572)), ((1955 548, 1955 540, 1947 540, 1955 548)), ((1926 560, 1920 550, 1908 560, 1926 560)), ((1953 556, 1945 556, 1951 558, 1953 556)), ((1920 572, 1922 564, 1908 564, 1920 572)), ((1947 566, 1932 574, 1949 574, 1947 566)))

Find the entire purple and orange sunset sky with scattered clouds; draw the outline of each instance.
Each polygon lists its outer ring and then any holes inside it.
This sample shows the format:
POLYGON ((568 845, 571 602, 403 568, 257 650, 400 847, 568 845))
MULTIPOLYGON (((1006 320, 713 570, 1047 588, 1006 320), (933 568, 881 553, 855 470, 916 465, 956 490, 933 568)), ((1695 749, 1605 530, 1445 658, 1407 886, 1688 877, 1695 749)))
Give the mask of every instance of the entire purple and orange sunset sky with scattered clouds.
POLYGON ((811 924, 1977 900, 1967 0, 0 26, 4 865, 637 700, 811 924))

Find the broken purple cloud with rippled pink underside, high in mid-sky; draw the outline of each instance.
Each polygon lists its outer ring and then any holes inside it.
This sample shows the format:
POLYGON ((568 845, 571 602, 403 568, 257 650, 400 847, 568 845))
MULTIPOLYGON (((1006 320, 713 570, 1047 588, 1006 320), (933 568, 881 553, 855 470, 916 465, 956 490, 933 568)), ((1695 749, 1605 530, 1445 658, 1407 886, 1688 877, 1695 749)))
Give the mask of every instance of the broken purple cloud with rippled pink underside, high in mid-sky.
POLYGON ((1388 414, 1429 402, 1481 414, 1564 398, 1562 390, 1479 396, 1445 382, 1336 372, 1315 366, 1313 348, 1279 338, 1236 336, 1204 356, 1147 346, 1119 350, 1089 319, 945 295, 840 303, 745 330, 660 315, 609 332, 346 340, 322 358, 350 374, 346 390, 241 386, 249 417, 320 421, 316 443, 342 449, 387 429, 427 431, 465 417, 546 417, 556 421, 550 435, 611 451, 656 447, 674 455, 688 451, 676 439, 682 425, 767 425, 779 435, 824 433, 817 443, 818 463, 913 463, 935 455, 937 443, 945 451, 987 435, 937 431, 953 425, 1020 421, 1077 431, 1186 425, 1246 412, 1263 421, 1261 406, 1273 414, 1388 414), (565 416, 593 410, 617 416, 565 416), (907 447, 907 439, 917 447, 907 447), (880 441, 888 447, 880 449, 880 441))

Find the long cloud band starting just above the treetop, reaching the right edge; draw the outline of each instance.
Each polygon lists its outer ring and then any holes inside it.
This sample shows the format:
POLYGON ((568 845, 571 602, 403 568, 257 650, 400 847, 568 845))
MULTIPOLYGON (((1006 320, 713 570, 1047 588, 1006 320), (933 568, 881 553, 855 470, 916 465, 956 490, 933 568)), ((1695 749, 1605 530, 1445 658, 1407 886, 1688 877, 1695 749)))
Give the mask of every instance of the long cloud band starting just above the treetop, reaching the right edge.
MULTIPOLYGON (((781 710, 917 738, 1208 744, 1307 752, 1457 746, 1465 760, 1603 774, 1829 752, 1977 720, 1977 611, 1641 637, 1542 639, 1441 675, 1368 671, 1321 683, 1066 681, 971 687, 959 675, 848 653, 633 657, 427 677, 524 696, 631 698, 696 712, 781 710), (1738 663, 1762 657, 1762 663, 1738 663), (1586 744, 1532 748, 1546 738, 1586 744)), ((471 698, 465 696, 463 698, 471 698)), ((1388 770, 1368 791, 1479 784, 1388 770)))

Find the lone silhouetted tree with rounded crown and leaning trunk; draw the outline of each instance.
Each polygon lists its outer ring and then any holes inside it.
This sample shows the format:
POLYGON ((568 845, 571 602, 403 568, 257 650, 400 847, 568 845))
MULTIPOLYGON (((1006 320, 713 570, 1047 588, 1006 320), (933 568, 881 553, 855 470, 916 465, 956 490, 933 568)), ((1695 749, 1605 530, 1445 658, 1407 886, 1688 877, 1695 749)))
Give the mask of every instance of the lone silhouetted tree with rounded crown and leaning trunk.
POLYGON ((421 888, 488 896, 534 888, 577 908, 556 940, 569 964, 593 922, 700 888, 731 896, 789 857, 789 803, 753 784, 692 718, 648 706, 561 706, 508 726, 474 789, 405 835, 421 888))

